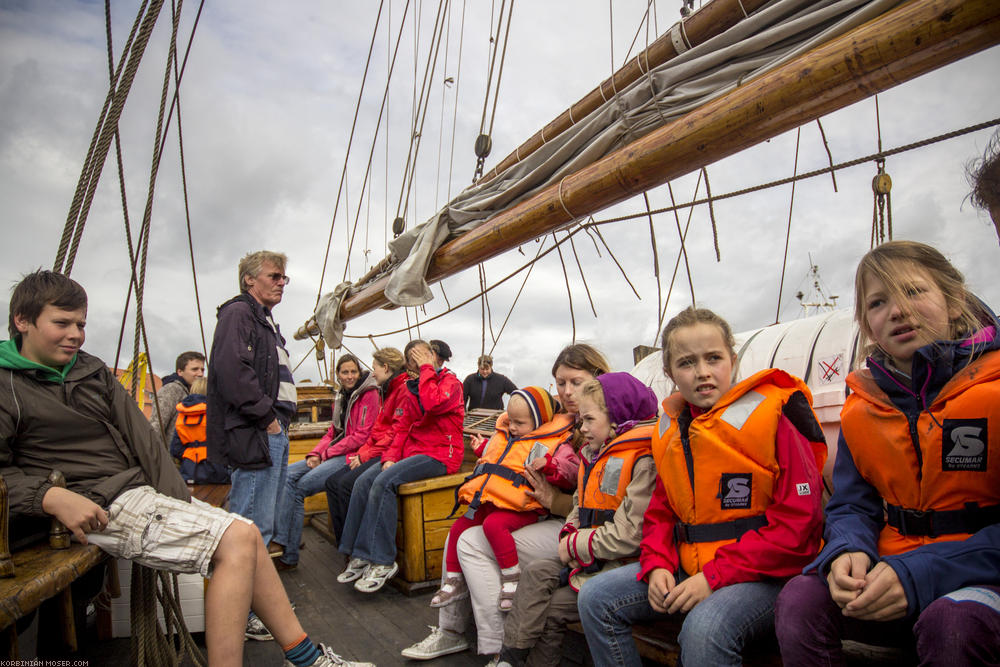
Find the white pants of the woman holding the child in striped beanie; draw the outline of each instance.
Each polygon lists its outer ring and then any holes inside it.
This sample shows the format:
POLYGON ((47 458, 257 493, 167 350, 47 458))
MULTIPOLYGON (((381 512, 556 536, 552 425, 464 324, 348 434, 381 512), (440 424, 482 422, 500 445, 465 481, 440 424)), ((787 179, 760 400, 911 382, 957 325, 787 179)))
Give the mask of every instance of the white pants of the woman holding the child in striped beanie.
MULTIPOLYGON (((523 568, 538 558, 558 558, 559 530, 562 526, 562 519, 547 519, 514 531, 520 566, 523 568)), ((442 630, 465 632, 471 608, 476 619, 479 654, 499 653, 503 645, 505 617, 497 606, 500 601, 500 567, 482 526, 469 528, 458 538, 458 561, 462 565, 465 583, 469 586, 469 598, 441 607, 438 610, 438 625, 442 630)), ((441 569, 444 569, 443 564, 441 569)), ((443 578, 442 572, 442 581, 443 578)))

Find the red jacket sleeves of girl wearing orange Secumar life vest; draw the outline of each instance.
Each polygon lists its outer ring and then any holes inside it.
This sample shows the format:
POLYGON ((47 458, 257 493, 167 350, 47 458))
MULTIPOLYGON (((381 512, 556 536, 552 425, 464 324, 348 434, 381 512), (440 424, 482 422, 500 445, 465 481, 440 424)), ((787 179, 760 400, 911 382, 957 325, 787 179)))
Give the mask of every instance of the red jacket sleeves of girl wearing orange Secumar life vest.
MULTIPOLYGON (((712 590, 799 574, 819 549, 823 525, 820 472, 809 441, 784 415, 778 421, 774 450, 779 472, 772 503, 764 512, 767 525, 720 547, 705 563, 702 572, 712 590), (808 484, 810 493, 799 495, 799 484, 808 484)), ((675 523, 677 515, 670 507, 663 478, 657 477, 642 525, 640 579, 658 567, 677 572, 680 559, 674 544, 675 523)))

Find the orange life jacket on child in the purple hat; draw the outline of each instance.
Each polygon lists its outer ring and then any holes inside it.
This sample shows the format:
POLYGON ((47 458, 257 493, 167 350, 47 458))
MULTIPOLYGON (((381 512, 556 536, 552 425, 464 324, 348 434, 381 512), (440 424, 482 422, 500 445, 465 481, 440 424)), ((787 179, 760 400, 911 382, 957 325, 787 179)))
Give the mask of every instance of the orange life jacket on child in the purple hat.
POLYGON ((600 526, 614 518, 632 482, 636 461, 651 453, 655 422, 640 422, 601 448, 593 463, 580 461, 577 501, 580 528, 600 526))

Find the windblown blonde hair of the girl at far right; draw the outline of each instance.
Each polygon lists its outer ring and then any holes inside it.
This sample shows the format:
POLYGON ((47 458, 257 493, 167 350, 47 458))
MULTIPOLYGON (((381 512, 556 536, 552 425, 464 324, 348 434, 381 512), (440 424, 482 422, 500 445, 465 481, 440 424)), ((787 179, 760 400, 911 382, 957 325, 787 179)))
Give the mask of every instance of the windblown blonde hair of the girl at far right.
MULTIPOLYGON (((903 268, 915 268, 924 272, 944 295, 949 313, 957 312, 948 326, 948 337, 952 340, 972 334, 980 327, 980 321, 988 319, 982 303, 965 286, 965 276, 956 269, 937 249, 916 241, 889 241, 869 250, 858 263, 854 274, 854 319, 861 329, 861 349, 867 356, 877 346, 868 326, 868 303, 865 300, 865 280, 875 277, 886 286, 897 303, 905 304, 907 286, 900 282, 903 268)), ((909 313, 921 325, 917 313, 909 313)))

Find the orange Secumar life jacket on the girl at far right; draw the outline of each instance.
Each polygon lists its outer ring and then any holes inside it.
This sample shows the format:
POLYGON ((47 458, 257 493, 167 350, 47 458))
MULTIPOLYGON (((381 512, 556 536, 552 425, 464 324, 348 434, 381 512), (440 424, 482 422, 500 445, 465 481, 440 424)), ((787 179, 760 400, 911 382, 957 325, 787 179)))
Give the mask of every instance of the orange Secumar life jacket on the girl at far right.
POLYGON ((909 424, 867 370, 847 377, 840 427, 885 499, 880 555, 964 540, 1000 521, 1000 352, 952 377, 909 424))

